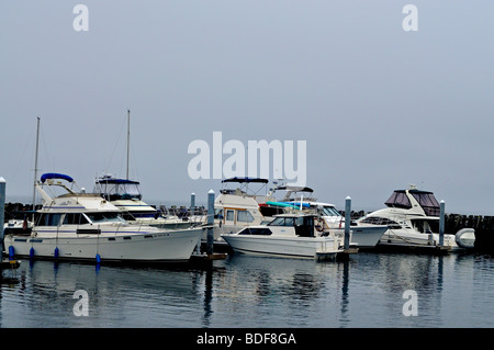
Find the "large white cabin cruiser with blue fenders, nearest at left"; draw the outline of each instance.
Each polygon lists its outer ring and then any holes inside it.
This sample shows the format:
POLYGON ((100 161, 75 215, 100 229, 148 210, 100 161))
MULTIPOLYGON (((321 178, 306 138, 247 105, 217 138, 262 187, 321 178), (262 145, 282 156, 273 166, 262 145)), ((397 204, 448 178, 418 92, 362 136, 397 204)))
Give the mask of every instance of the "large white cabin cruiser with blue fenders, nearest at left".
POLYGON ((35 225, 4 236, 10 257, 101 261, 187 261, 202 228, 167 229, 131 224, 99 193, 74 190, 72 178, 45 173, 35 189, 43 197, 35 225), (59 195, 50 195, 63 192, 59 195))

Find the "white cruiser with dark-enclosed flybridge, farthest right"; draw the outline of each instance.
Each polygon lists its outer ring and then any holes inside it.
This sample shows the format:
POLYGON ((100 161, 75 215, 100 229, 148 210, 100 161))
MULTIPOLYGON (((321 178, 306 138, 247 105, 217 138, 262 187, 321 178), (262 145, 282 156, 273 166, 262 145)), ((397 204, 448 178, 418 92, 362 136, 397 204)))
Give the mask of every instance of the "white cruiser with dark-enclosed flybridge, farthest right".
MULTIPOLYGON (((384 204, 388 207, 357 221, 358 226, 389 227, 378 247, 439 247, 440 205, 433 192, 422 191, 412 185, 406 190, 394 191, 384 204)), ((442 247, 450 251, 473 248, 472 235, 471 229, 459 232, 457 235, 445 233, 442 247)))

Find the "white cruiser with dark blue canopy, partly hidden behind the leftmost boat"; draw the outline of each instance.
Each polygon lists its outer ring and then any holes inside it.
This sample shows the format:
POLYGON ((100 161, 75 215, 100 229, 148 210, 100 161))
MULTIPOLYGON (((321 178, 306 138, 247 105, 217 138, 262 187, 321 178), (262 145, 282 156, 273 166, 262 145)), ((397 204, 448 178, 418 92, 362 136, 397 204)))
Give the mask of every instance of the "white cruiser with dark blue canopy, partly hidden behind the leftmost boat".
POLYGON ((191 226, 187 219, 178 216, 165 216, 164 213, 143 201, 139 182, 128 179, 113 178, 105 174, 94 183, 94 193, 100 193, 106 201, 123 213, 122 216, 133 223, 160 228, 186 228, 191 226))

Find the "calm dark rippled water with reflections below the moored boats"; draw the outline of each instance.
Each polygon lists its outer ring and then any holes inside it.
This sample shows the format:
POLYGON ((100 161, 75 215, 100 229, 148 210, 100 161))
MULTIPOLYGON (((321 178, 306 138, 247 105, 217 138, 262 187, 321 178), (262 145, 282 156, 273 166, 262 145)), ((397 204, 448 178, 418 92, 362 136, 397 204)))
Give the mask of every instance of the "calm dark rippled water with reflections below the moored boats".
MULTIPOLYGON (((211 269, 23 261, 0 327, 494 327, 489 256, 364 253, 349 262, 232 256, 211 269), (75 316, 74 293, 88 293, 75 316), (406 290, 417 315, 404 316, 406 290)), ((12 279, 10 279, 12 278, 12 279)))

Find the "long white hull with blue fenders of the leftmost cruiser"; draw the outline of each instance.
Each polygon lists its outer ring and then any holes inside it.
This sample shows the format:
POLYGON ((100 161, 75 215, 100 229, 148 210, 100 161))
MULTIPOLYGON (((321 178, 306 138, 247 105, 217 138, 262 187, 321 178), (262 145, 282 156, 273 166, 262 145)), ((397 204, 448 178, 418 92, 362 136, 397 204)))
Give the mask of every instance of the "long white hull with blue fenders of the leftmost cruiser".
POLYGON ((5 236, 15 257, 63 260, 187 261, 202 236, 202 228, 91 237, 5 236), (58 248, 58 249, 57 249, 58 248))

